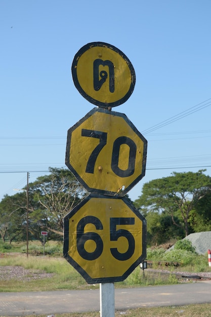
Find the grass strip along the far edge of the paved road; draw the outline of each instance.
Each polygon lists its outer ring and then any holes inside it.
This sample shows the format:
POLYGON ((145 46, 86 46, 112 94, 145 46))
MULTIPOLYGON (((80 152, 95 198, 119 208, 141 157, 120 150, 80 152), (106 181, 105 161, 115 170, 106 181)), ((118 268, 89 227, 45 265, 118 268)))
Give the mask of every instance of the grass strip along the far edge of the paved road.
MULTIPOLYGON (((24 255, 10 256, 1 258, 0 266, 22 266, 26 269, 40 270, 47 273, 53 273, 51 278, 22 281, 19 279, 11 279, 9 281, 1 281, 0 292, 25 292, 25 291, 53 291, 53 290, 76 290, 98 288, 98 284, 87 284, 82 276, 61 257, 49 256, 30 256, 26 258, 24 255)), ((166 280, 162 280, 157 274, 151 276, 137 267, 129 277, 123 282, 115 283, 116 287, 140 287, 147 285, 174 284, 177 280, 173 280, 170 275, 166 280)))

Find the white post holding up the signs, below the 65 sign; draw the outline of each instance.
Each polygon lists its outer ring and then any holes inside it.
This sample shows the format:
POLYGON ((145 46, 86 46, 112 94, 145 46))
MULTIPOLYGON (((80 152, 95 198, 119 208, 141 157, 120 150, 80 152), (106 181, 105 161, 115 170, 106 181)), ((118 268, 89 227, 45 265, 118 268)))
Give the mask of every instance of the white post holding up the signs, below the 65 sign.
POLYGON ((100 283, 100 317, 114 317, 114 283, 100 283))

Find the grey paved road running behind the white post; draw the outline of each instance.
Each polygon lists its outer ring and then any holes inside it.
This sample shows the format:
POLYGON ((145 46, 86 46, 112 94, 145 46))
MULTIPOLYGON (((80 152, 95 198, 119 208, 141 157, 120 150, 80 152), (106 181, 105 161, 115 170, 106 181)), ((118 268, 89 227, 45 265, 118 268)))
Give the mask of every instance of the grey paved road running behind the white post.
MULTIPOLYGON (((211 282, 115 289, 115 309, 211 303, 211 282)), ((0 293, 0 315, 100 310, 99 290, 0 293)))

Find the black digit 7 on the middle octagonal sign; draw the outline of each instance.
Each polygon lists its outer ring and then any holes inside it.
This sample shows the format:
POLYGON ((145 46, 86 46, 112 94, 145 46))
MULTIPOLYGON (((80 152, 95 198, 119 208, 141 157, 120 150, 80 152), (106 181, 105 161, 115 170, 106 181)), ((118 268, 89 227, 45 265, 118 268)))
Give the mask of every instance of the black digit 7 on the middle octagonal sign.
POLYGON ((87 162, 86 173, 94 174, 94 167, 97 157, 107 142, 107 133, 102 131, 82 129, 81 136, 100 139, 100 143, 94 148, 87 162))

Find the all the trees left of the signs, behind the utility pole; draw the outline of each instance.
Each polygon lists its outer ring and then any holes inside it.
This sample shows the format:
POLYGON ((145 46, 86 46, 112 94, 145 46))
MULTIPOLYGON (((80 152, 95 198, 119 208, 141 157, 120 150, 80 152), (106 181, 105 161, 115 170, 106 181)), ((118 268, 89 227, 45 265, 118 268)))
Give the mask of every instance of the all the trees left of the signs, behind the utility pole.
MULTIPOLYGON (((48 231, 48 240, 63 236, 63 218, 77 205, 86 190, 67 169, 49 168, 50 174, 29 183, 28 221, 30 237, 42 241, 40 232, 48 231)), ((23 188, 24 190, 26 189, 23 188)), ((26 232, 26 193, 6 195, 0 202, 0 233, 3 241, 12 241, 26 232)))

